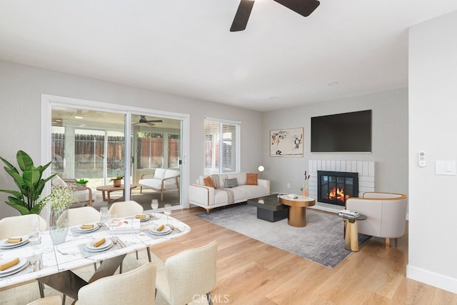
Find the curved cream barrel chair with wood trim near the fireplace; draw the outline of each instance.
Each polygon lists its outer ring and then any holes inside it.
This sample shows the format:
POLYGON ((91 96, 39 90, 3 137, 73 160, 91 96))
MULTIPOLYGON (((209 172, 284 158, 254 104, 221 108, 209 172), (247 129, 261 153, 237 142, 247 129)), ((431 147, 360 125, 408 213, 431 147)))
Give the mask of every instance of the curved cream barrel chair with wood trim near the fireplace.
POLYGON ((386 249, 390 248, 390 239, 397 241, 405 234, 406 195, 367 191, 361 198, 347 199, 346 209, 365 215, 366 220, 357 221, 358 233, 386 239, 386 249))

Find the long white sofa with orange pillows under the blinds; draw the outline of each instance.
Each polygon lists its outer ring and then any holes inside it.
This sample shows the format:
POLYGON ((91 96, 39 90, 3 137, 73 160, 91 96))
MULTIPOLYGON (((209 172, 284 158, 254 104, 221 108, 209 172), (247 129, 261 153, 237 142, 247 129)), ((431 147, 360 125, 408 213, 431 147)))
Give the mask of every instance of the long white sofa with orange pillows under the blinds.
MULTIPOLYGON (((267 196, 270 194, 270 181, 257 179, 257 185, 246 184, 246 172, 232 174, 212 175, 219 179, 220 189, 212 186, 206 186, 204 179, 208 176, 200 176, 196 184, 189 186, 189 203, 195 206, 201 206, 206 209, 209 214, 211 209, 238 202, 247 201, 248 199, 267 196), (238 186, 229 188, 233 193, 233 201, 230 200, 231 195, 224 188, 224 179, 236 178, 238 186)), ((217 185, 217 184, 215 184, 217 185)))

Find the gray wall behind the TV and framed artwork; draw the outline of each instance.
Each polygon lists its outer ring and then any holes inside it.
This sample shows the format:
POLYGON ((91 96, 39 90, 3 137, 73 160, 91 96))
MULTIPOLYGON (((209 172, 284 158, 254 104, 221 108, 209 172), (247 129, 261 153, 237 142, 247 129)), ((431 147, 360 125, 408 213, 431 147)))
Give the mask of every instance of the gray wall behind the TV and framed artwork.
POLYGON ((271 179, 272 191, 300 193, 308 160, 375 161, 376 191, 408 194, 408 89, 398 89, 322 104, 270 111, 263 116, 264 176, 271 179), (343 112, 373 110, 371 154, 312 153, 311 117, 343 112), (270 157, 269 132, 273 129, 304 127, 304 157, 270 157), (291 189, 286 184, 291 184, 291 189))

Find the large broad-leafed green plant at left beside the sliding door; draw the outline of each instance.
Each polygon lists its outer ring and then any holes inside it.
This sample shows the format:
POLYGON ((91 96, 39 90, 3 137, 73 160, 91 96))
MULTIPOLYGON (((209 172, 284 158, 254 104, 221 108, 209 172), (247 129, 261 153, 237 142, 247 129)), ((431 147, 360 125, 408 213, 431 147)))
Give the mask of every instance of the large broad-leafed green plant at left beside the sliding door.
POLYGON ((14 179, 14 183, 19 191, 0 189, 4 193, 11 194, 8 196, 8 201, 5 201, 9 206, 17 209, 22 215, 26 214, 39 214, 41 205, 38 204, 39 196, 44 189, 44 184, 56 176, 52 174, 46 179, 43 179, 43 172, 51 165, 51 162, 44 166, 34 166, 34 161, 26 154, 25 151, 18 151, 16 154, 17 164, 19 170, 16 169, 11 163, 1 158, 4 161, 5 171, 14 179))

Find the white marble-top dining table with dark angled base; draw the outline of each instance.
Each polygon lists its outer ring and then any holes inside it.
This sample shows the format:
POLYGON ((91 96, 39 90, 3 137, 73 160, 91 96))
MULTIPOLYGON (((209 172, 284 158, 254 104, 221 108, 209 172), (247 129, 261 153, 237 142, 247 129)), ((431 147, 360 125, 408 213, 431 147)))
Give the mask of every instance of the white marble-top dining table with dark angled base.
POLYGON ((101 277, 113 275, 126 254, 146 249, 151 261, 150 246, 179 238, 191 231, 190 226, 184 222, 171 216, 167 218, 161 213, 144 214, 141 217, 143 218, 125 218, 131 219, 131 222, 139 222, 139 226, 136 226, 139 229, 134 231, 115 231, 109 221, 94 223, 91 229, 82 229, 81 225, 71 226, 64 243, 57 245, 53 244, 49 231, 41 232, 41 242, 36 245, 27 242, 27 236, 19 236, 23 241, 14 247, 6 246, 6 239, 1 240, 0 265, 16 258, 19 258, 19 263, 0 271, 0 291, 39 281, 41 297, 44 297, 43 284, 46 284, 72 299, 77 299, 82 286, 101 277), (164 229, 160 230, 162 225, 164 229), (98 249, 94 243, 102 239, 104 244, 98 249), (81 279, 71 271, 100 262, 102 264, 89 281, 81 279))

